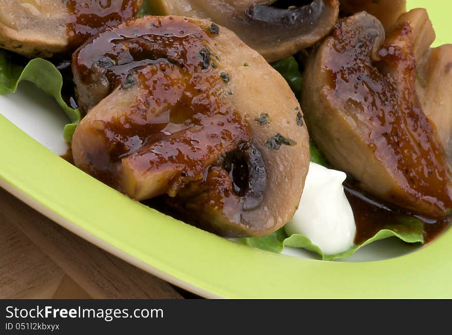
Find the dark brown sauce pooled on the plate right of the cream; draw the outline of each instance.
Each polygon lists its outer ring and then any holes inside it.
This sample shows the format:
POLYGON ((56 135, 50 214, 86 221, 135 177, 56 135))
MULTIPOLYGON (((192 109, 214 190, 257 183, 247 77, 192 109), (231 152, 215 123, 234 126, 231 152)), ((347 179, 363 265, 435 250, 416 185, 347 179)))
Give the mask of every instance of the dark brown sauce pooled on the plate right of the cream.
POLYGON ((422 225, 424 244, 427 244, 444 232, 452 221, 450 217, 430 220, 422 216, 413 216, 412 213, 373 201, 364 194, 348 187, 345 187, 345 194, 355 219, 356 234, 354 243, 356 245, 362 244, 380 230, 386 228, 401 233, 410 233, 413 228, 398 220, 401 218, 409 218, 410 221, 419 220, 419 224, 422 225))

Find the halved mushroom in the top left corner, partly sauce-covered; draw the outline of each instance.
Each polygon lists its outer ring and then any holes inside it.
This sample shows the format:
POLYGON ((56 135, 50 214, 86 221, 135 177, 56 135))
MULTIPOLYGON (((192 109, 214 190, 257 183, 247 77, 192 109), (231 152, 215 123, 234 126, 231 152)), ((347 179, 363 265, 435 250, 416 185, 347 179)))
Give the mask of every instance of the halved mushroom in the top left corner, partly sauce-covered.
POLYGON ((138 13, 143 0, 0 0, 0 47, 28 57, 72 51, 138 13))

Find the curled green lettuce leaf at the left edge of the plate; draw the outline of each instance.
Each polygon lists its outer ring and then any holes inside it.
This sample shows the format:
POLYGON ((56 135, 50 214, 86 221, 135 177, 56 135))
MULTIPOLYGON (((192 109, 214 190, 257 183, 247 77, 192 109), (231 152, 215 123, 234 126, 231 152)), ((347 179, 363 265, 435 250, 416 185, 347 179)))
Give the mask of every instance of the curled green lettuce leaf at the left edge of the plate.
POLYGON ((72 141, 72 135, 81 120, 80 110, 70 108, 61 96, 63 77, 60 71, 42 58, 35 58, 24 67, 12 62, 12 53, 0 50, 0 94, 14 93, 18 84, 23 81, 34 83, 47 94, 52 95, 70 120, 64 127, 63 137, 72 141))

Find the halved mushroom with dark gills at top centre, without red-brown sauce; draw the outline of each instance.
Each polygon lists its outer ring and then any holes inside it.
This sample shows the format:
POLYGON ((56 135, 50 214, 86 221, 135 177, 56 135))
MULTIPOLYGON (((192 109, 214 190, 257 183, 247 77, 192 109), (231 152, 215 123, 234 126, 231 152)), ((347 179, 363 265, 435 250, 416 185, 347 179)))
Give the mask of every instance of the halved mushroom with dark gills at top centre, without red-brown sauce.
MULTIPOLYGON (((264 0, 148 0, 155 14, 206 18, 234 31, 267 61, 286 58, 313 46, 333 28, 339 13, 337 0, 277 7, 264 0)), ((306 3, 306 2, 304 2, 306 3)))

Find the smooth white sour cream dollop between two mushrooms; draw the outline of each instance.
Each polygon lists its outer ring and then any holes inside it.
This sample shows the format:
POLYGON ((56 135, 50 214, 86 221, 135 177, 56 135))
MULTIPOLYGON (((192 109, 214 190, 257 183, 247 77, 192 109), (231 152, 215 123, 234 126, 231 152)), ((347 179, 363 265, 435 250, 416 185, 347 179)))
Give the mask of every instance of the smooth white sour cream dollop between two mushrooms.
POLYGON ((308 237, 324 254, 353 246, 356 226, 342 183, 346 174, 310 163, 302 199, 286 233, 308 237))

